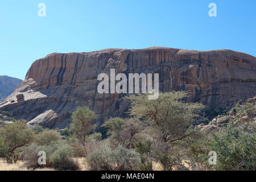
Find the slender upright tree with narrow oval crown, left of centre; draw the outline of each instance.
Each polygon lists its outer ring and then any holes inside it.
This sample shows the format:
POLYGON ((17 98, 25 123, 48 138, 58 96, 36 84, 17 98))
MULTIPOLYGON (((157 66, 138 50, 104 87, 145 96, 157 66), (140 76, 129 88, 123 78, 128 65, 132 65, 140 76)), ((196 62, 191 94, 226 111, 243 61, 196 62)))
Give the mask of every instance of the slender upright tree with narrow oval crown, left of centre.
POLYGON ((72 113, 72 119, 71 128, 74 131, 76 138, 82 144, 84 154, 86 156, 85 139, 96 127, 96 125, 93 124, 96 119, 96 114, 86 106, 79 106, 72 113))

